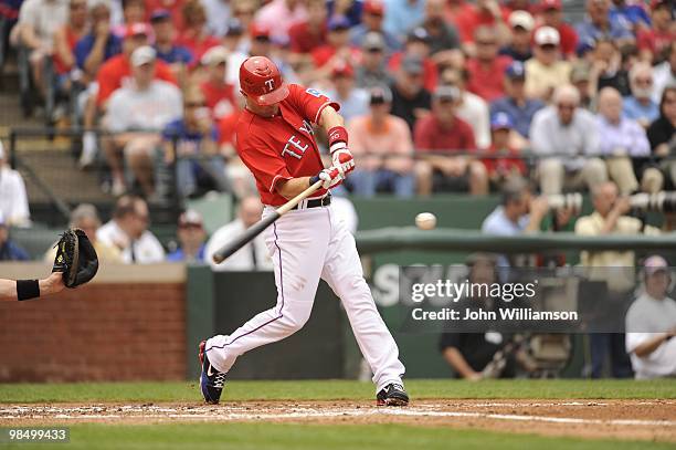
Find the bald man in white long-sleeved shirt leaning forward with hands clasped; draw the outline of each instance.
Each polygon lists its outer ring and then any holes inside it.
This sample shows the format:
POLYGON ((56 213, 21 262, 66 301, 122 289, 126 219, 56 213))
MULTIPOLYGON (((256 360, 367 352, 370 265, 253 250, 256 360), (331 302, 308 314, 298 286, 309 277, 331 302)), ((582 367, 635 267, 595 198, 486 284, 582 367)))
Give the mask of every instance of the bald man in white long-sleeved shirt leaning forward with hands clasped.
POLYGON ((556 88, 552 105, 538 111, 530 125, 532 151, 540 156, 538 172, 543 195, 561 193, 608 180, 605 164, 598 157, 596 121, 579 107, 580 93, 564 84, 556 88), (548 157, 554 154, 556 156, 548 157))

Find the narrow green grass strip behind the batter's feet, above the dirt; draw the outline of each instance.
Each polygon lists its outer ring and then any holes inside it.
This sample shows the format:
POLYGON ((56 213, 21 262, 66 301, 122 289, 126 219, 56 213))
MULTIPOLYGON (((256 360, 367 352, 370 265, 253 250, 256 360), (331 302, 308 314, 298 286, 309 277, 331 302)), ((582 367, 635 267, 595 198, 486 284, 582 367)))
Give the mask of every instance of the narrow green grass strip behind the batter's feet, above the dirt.
MULTIPOLYGON (((676 398, 674 380, 486 380, 450 379, 406 381, 409 394, 424 398, 676 398)), ((373 385, 351 380, 230 381, 228 400, 335 400, 372 399, 373 385)), ((184 383, 82 383, 0 384, 1 402, 77 401, 200 401, 196 381, 184 383)))

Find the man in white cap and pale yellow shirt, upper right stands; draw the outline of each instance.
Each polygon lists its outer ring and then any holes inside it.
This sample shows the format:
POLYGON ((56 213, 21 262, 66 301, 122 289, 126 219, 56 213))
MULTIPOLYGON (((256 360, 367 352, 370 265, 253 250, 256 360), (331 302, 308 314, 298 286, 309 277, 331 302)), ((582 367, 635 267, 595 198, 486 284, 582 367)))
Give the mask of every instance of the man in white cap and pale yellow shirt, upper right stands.
POLYGON ((568 84, 570 63, 561 60, 559 32, 542 27, 535 33, 535 57, 526 61, 526 95, 549 100, 554 87, 568 84))

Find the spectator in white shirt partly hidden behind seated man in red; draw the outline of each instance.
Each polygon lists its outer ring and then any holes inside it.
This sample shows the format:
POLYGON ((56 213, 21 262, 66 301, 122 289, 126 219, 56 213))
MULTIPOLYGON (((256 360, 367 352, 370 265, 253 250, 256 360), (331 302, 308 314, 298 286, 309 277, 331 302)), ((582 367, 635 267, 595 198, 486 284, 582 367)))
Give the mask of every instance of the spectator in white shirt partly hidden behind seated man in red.
POLYGON ((441 74, 441 84, 455 86, 460 91, 460 103, 455 112, 474 132, 476 146, 480 149, 490 145, 490 113, 488 103, 466 90, 469 72, 466 69, 445 69, 441 74))

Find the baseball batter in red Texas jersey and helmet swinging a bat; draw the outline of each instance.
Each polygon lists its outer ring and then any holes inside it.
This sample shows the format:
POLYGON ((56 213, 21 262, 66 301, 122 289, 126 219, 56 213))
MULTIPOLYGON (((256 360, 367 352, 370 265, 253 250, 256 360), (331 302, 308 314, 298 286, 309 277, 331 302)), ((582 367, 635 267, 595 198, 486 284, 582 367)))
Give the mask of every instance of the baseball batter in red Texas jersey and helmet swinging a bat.
POLYGON ((256 179, 263 216, 321 180, 323 188, 265 231, 277 304, 230 335, 200 344, 204 400, 218 404, 225 375, 244 353, 283 339, 309 318, 319 279, 340 297, 359 348, 373 371, 378 405, 409 402, 399 349, 380 317, 361 271, 352 234, 331 210, 329 190, 355 168, 339 105, 311 88, 287 85, 263 56, 245 60, 240 87, 246 101, 236 128, 237 153, 256 179), (332 166, 325 169, 313 124, 329 137, 332 166))

